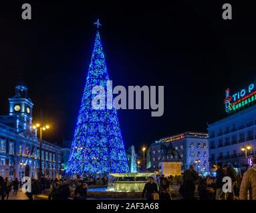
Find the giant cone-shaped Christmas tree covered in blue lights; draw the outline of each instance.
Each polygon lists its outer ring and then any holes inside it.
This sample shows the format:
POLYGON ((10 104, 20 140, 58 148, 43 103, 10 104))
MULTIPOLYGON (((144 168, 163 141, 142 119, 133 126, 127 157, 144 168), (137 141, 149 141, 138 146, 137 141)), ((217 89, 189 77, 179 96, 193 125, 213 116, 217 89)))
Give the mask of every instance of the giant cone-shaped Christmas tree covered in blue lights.
MULTIPOLYGON (((107 91, 109 80, 106 61, 97 31, 86 87, 72 140, 67 172, 71 174, 106 174, 128 172, 128 163, 116 109, 93 109, 92 88, 107 91)), ((107 94, 105 93, 105 100, 107 94)))

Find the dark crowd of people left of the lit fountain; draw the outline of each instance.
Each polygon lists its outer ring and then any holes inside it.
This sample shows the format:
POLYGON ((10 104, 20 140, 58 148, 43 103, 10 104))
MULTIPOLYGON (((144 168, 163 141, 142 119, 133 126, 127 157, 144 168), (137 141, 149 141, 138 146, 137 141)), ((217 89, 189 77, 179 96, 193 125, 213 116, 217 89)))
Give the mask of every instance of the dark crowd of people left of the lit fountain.
MULTIPOLYGON (((42 176, 39 180, 31 179, 31 192, 26 192, 27 198, 33 200, 37 194, 47 194, 49 200, 84 200, 87 198, 88 186, 102 186, 108 183, 107 176, 88 176, 87 178, 71 179, 49 179, 42 176)), ((8 200, 9 193, 13 190, 13 196, 17 196, 19 188, 24 184, 15 178, 10 181, 8 177, 0 176, 0 194, 2 200, 8 200)))

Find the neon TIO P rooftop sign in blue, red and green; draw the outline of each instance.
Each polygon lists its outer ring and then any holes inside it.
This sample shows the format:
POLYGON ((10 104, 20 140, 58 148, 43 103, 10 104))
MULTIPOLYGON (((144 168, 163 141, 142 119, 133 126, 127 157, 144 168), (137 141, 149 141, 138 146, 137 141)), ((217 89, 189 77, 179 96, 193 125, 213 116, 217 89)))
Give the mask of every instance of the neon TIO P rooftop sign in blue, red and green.
POLYGON ((256 101, 256 85, 251 84, 246 89, 230 95, 229 89, 226 91, 226 98, 224 100, 226 112, 234 112, 241 107, 247 107, 256 101))

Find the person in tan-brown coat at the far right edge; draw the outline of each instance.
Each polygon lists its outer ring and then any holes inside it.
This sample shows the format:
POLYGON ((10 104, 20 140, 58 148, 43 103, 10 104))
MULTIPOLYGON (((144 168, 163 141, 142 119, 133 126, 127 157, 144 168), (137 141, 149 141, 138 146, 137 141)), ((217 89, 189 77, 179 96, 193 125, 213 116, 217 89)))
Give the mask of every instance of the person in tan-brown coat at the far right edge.
POLYGON ((253 158, 253 166, 243 175, 239 198, 240 200, 256 200, 256 156, 253 158))

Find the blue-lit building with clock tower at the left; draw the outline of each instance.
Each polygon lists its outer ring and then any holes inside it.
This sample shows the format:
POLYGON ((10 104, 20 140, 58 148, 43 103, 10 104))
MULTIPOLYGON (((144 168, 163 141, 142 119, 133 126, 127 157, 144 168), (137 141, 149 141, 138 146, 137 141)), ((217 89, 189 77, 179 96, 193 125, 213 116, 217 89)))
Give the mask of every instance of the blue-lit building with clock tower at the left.
MULTIPOLYGON (((15 96, 9 99, 9 115, 0 116, 0 176, 38 176, 39 138, 37 129, 32 128, 32 109, 27 85, 18 83, 15 96)), ((60 160, 61 147, 43 140, 42 172, 46 177, 59 177, 60 160)))

